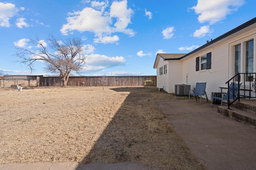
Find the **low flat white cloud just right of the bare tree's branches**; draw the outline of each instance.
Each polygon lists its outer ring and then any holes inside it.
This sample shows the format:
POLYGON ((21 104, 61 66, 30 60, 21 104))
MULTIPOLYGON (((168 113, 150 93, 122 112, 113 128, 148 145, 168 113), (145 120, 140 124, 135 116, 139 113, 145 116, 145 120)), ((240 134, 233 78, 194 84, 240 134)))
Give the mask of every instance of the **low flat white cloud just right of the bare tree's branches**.
POLYGON ((87 71, 100 71, 104 68, 111 68, 114 66, 124 65, 126 60, 124 57, 108 57, 106 55, 91 54, 88 55, 86 65, 88 65, 87 71))

